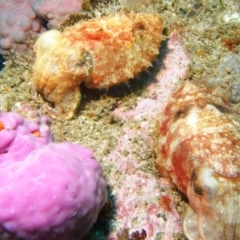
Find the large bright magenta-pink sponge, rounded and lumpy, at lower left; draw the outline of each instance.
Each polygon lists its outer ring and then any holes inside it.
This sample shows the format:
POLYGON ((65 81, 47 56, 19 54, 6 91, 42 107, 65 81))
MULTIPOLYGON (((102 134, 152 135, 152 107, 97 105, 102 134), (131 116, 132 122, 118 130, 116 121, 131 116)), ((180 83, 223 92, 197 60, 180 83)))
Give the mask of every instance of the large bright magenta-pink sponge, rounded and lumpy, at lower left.
POLYGON ((73 231, 81 239, 105 204, 92 151, 51 140, 44 119, 36 126, 0 113, 0 239, 65 240, 73 231))

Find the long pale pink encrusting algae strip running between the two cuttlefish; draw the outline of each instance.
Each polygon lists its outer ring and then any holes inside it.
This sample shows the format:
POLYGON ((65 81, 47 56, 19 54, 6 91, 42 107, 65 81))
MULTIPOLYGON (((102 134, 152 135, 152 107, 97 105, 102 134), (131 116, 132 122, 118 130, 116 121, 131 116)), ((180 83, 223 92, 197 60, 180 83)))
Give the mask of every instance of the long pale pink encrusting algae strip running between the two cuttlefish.
POLYGON ((125 229, 128 229, 129 236, 143 229, 148 240, 157 239, 160 235, 161 239, 169 240, 173 239, 174 234, 181 233, 181 219, 168 194, 171 181, 157 178, 144 170, 149 151, 154 149, 155 144, 153 124, 173 93, 174 85, 186 74, 188 66, 188 56, 175 35, 170 37, 167 49, 171 52, 166 55, 164 69, 157 74, 156 81, 148 86, 148 96, 139 99, 134 109, 124 111, 118 108, 114 111, 125 123, 130 119, 136 120, 139 127, 137 130, 124 127, 118 144, 102 161, 103 168, 114 166, 108 179, 111 179, 109 184, 116 198, 115 230, 108 240, 119 239, 125 229), (143 141, 140 150, 134 149, 134 139, 143 141), (136 151, 143 161, 137 159, 136 151), (169 199, 167 207, 164 205, 165 199, 169 199), (161 217, 163 215, 166 219, 161 217))

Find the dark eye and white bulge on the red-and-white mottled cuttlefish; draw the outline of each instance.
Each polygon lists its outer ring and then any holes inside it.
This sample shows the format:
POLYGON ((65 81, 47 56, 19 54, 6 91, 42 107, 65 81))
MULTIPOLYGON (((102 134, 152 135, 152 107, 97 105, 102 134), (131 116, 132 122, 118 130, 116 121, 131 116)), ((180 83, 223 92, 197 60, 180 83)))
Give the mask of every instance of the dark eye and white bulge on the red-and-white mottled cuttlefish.
POLYGON ((216 173, 205 166, 197 167, 191 175, 191 189, 199 197, 209 198, 214 195, 218 187, 216 173))

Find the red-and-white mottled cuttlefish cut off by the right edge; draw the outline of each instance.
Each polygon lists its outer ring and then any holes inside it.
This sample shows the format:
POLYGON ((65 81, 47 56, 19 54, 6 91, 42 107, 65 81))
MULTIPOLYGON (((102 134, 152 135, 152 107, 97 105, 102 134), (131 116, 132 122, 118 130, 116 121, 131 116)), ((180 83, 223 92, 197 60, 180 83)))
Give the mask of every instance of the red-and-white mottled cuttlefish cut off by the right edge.
POLYGON ((187 238, 240 239, 240 115, 230 103, 184 83, 163 113, 159 146, 157 167, 190 202, 187 238))

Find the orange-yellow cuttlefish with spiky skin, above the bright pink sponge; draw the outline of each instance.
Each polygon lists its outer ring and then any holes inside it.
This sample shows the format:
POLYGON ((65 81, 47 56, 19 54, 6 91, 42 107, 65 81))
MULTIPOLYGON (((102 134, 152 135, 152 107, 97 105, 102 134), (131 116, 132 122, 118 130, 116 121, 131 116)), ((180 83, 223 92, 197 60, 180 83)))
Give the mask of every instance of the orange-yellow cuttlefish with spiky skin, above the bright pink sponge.
POLYGON ((146 70, 159 53, 162 29, 156 14, 119 13, 43 33, 34 46, 32 82, 49 115, 72 118, 82 82, 109 88, 146 70))

